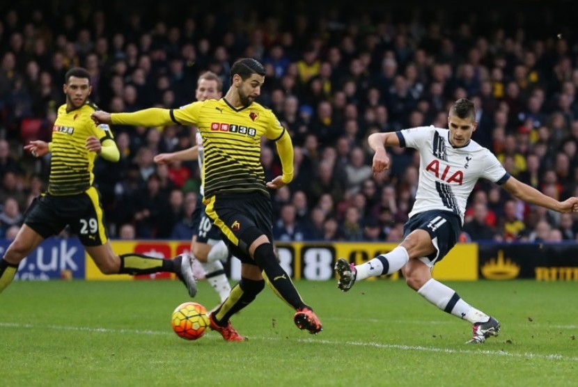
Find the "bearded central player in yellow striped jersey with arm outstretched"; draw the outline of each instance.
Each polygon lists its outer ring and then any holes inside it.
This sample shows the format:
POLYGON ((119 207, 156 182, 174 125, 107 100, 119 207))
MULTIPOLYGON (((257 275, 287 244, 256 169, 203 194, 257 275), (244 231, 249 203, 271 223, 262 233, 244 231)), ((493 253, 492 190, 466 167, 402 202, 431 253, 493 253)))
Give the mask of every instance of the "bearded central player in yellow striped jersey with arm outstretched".
POLYGON ((273 248, 272 208, 267 188, 279 189, 293 177, 293 148, 289 134, 272 111, 254 102, 265 81, 265 68, 252 58, 231 66, 231 88, 221 100, 206 100, 180 109, 151 108, 134 113, 92 114, 97 124, 161 126, 194 125, 205 150, 204 203, 206 213, 225 235, 241 264, 241 281, 229 297, 210 313, 211 329, 228 341, 244 340, 231 316, 247 306, 265 287, 295 308, 299 329, 318 333, 322 326, 283 270, 273 248), (276 143, 283 174, 265 182, 260 164, 261 137, 276 143))

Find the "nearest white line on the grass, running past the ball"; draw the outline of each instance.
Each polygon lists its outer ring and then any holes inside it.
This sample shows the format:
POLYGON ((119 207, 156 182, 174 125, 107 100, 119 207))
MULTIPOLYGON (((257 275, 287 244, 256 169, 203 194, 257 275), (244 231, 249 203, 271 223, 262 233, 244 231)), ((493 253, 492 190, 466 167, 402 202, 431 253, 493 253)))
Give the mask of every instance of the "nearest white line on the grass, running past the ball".
MULTIPOLYGON (((0 322, 0 326, 6 328, 38 328, 38 325, 33 324, 19 324, 15 322, 0 322)), ((110 329, 110 328, 91 328, 89 326, 63 326, 63 325, 43 325, 43 329, 54 329, 58 331, 78 331, 78 332, 95 332, 95 333, 136 333, 139 335, 172 335, 170 331, 151 331, 151 330, 141 330, 141 329, 110 329)), ((251 339, 251 338, 249 338, 251 339)), ((253 340, 271 340, 279 341, 281 338, 271 338, 271 337, 254 337, 253 340)), ((343 342, 331 341, 325 339, 297 339, 299 342, 308 342, 314 344, 327 344, 327 345, 343 345, 343 342)), ((383 349, 400 349, 403 351, 421 351, 421 352, 436 352, 443 354, 472 354, 472 355, 490 355, 490 356, 506 356, 510 358, 529 358, 529 359, 545 359, 545 360, 556 360, 556 361, 578 361, 578 357, 575 356, 563 356, 560 354, 515 354, 511 352, 504 351, 489 351, 489 350, 470 350, 470 349, 449 349, 449 348, 438 348, 438 347, 423 347, 421 345, 399 345, 399 344, 382 344, 379 342, 360 342, 360 341, 347 341, 345 345, 353 345, 356 347, 373 347, 373 348, 383 348, 383 349)))

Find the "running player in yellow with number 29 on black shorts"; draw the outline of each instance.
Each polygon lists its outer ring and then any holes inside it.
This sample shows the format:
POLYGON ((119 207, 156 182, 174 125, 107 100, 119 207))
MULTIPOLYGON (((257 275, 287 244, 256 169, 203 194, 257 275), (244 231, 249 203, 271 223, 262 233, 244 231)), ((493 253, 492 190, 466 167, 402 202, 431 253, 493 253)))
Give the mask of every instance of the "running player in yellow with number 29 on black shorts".
POLYGON ((52 142, 31 141, 24 146, 32 155, 52 152, 47 192, 35 198, 24 217, 24 225, 0 259, 0 292, 14 279, 18 264, 42 240, 58 235, 70 225, 80 242, 104 274, 150 274, 170 271, 185 283, 191 297, 196 282, 188 256, 171 260, 140 254, 116 255, 111 248, 100 194, 93 186, 97 155, 118 161, 120 154, 109 125, 95 126, 91 113, 97 108, 88 101, 91 75, 83 68, 65 74, 66 104, 58 109, 52 142))

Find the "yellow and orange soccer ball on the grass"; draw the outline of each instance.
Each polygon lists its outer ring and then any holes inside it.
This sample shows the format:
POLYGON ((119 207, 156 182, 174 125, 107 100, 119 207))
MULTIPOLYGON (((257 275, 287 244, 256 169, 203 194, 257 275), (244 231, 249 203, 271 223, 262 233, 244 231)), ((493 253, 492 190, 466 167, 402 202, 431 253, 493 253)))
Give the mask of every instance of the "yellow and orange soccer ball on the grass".
POLYGON ((207 309, 200 303, 184 302, 173 311, 173 331, 186 340, 201 338, 209 326, 207 309))

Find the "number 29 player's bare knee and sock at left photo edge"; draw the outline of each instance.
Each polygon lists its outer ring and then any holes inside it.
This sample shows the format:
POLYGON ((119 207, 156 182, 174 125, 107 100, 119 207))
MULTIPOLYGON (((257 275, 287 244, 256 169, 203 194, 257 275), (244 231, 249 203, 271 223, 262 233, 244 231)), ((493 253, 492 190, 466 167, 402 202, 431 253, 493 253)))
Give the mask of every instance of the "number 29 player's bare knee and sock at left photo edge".
POLYGON ((0 293, 14 280, 18 264, 43 240, 38 232, 26 224, 20 228, 6 253, 0 258, 0 293))

